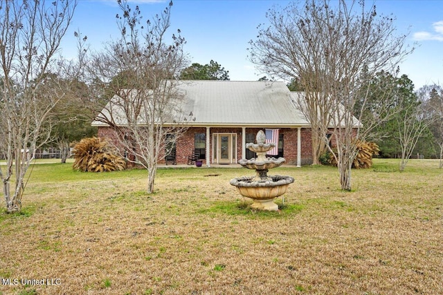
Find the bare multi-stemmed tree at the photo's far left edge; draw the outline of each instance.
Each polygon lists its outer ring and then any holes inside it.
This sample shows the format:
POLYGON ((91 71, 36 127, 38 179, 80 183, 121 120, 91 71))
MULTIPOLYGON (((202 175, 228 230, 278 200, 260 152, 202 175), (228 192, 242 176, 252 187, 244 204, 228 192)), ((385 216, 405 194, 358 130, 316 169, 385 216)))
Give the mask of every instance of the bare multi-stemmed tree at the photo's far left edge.
POLYGON ((8 212, 21 210, 26 171, 48 140, 48 119, 65 94, 66 85, 47 86, 48 74, 63 66, 57 49, 75 6, 68 0, 0 1, 0 148, 6 158, 0 179, 8 212))

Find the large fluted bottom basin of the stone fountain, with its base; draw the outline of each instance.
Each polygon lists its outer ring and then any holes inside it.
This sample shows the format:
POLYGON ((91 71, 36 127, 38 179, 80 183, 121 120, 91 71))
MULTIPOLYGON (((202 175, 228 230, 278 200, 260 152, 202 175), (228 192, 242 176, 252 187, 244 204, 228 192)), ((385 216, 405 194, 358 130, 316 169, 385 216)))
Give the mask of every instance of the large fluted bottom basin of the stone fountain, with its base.
POLYGON ((278 205, 273 202, 274 198, 286 193, 289 184, 294 182, 291 176, 273 175, 270 181, 253 181, 253 176, 233 178, 230 184, 237 187, 242 196, 253 199, 251 208, 268 211, 278 211, 278 205))

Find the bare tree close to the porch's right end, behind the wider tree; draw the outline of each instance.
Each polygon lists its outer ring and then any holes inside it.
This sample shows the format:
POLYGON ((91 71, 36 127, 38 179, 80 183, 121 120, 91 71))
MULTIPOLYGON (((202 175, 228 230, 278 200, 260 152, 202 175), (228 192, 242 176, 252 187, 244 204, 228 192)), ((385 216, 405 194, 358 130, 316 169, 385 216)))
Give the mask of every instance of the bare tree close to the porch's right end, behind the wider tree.
POLYGON ((305 23, 304 12, 297 3, 289 4, 282 12, 270 9, 266 18, 269 28, 260 29, 257 40, 249 42, 251 61, 272 77, 297 80, 305 90, 305 100, 298 104, 311 124, 313 164, 320 164, 332 103, 320 79, 325 68, 320 50, 323 36, 309 31, 314 23, 305 23))

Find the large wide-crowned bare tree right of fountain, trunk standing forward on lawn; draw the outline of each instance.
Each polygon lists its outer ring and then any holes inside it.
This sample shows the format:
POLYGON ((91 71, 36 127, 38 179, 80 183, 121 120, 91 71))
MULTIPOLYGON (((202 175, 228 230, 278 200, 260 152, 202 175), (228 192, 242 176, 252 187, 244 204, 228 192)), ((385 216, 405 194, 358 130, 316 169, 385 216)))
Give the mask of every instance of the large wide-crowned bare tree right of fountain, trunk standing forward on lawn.
POLYGON ((323 144, 334 139, 337 149, 329 151, 338 163, 341 188, 350 190, 355 139, 365 140, 383 122, 388 102, 380 98, 372 110, 377 120, 363 129, 362 118, 354 116, 357 104, 360 115, 367 113, 370 88, 362 87, 379 71, 396 70, 408 53, 406 36, 395 35, 392 17, 377 16, 375 6, 367 9, 364 1, 307 0, 282 12, 273 8, 266 17, 271 26, 251 41, 251 60, 266 73, 300 79, 312 132, 323 144))

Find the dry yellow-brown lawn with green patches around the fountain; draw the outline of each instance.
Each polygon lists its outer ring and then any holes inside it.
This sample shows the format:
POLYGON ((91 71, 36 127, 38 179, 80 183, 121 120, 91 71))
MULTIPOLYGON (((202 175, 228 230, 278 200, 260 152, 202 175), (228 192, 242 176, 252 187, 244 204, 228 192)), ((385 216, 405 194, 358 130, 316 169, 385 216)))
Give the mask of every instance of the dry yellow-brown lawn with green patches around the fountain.
POLYGON ((35 165, 0 213, 0 294, 443 294, 437 161, 352 173, 273 169, 296 182, 260 212, 229 184, 246 169, 159 169, 147 195, 143 170, 35 165))

